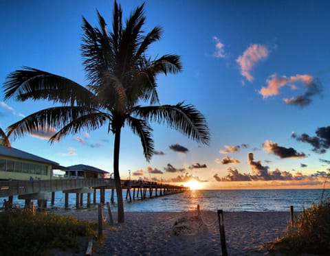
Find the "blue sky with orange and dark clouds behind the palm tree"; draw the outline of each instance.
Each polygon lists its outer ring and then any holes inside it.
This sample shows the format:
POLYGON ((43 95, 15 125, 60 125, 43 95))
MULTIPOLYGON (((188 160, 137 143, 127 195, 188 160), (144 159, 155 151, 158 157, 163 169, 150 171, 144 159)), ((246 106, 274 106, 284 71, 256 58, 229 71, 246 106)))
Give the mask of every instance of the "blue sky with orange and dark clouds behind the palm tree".
MULTIPOLYGON (((120 1, 127 17, 143 1, 120 1)), ((113 1, 1 1, 0 82, 23 66, 87 84, 80 56, 82 16, 111 29, 113 1)), ((164 29, 149 54, 179 54, 183 71, 158 78, 162 104, 185 101, 205 115, 210 146, 154 124, 156 154, 123 131, 121 178, 204 187, 322 187, 330 167, 330 3, 328 1, 145 1, 145 31, 164 29), (302 136, 303 135, 303 136, 302 136), (262 181, 262 182, 261 182, 262 181)), ((0 126, 50 102, 3 102, 0 126)), ((61 165, 112 172, 113 136, 105 128, 54 144, 40 135, 12 141, 61 165)))

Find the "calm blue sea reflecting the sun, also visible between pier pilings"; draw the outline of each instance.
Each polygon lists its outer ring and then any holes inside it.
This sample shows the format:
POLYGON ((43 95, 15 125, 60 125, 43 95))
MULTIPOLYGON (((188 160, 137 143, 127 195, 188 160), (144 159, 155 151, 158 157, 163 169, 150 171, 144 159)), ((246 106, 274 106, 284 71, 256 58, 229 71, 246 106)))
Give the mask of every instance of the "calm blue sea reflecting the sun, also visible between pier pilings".
MULTIPOLYGON (((148 195, 148 194, 147 194, 148 195)), ((147 198, 125 202, 125 211, 188 211, 196 209, 197 205, 203 210, 217 211, 289 211, 290 205, 295 211, 302 211, 313 203, 319 202, 322 189, 281 189, 281 190, 192 190, 186 193, 170 196, 147 198)), ((126 198, 126 191, 123 191, 126 198)), ((110 202, 111 190, 105 194, 106 202, 110 202)), ((330 189, 326 189, 323 198, 330 197, 330 189)), ((93 198, 93 196, 91 196, 93 198)), ((100 196, 96 194, 97 202, 100 196)), ((83 206, 86 209, 87 196, 84 195, 83 206)), ((1 202, 2 202, 1 198, 1 202)), ((92 199, 91 199, 92 200, 92 199)), ((116 200, 116 198, 115 198, 116 200)), ((23 207, 24 200, 14 197, 14 204, 23 207)), ((51 211, 64 209, 64 194, 56 192, 55 205, 47 203, 51 211)), ((97 205, 92 205, 97 207, 97 205)), ((69 194, 69 209, 76 209, 76 195, 69 194)), ((116 211, 116 205, 111 205, 116 211)))

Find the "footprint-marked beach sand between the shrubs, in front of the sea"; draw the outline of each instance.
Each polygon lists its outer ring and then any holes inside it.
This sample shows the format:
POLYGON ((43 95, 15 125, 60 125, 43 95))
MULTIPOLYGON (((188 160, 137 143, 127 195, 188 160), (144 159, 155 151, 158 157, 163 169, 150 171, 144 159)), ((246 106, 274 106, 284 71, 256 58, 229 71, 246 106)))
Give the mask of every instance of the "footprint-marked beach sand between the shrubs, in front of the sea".
MULTIPOLYGON (((98 220, 98 211, 63 213, 82 220, 98 220)), ((103 246, 93 255, 222 255, 217 212, 201 211, 201 218, 184 222, 192 230, 173 234, 180 218, 196 218, 197 211, 126 212, 125 222, 103 225, 103 246), (194 217, 195 216, 195 217, 194 217), (195 226, 194 226, 195 225, 195 226), (207 229, 206 229, 207 228, 207 229)), ((107 218, 104 209, 104 218, 107 218)), ((274 255, 265 244, 283 235, 289 221, 288 212, 225 212, 223 225, 228 255, 274 255)), ((277 255, 277 254, 276 254, 277 255)))

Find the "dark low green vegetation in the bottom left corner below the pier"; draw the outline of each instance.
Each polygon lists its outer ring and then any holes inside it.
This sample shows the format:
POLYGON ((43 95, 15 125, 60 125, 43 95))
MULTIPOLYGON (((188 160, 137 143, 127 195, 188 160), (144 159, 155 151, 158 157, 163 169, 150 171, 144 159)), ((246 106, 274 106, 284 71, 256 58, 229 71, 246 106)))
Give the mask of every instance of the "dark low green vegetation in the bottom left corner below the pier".
POLYGON ((94 237, 93 222, 23 209, 0 213, 0 255, 48 255, 51 248, 78 252, 78 237, 94 237))

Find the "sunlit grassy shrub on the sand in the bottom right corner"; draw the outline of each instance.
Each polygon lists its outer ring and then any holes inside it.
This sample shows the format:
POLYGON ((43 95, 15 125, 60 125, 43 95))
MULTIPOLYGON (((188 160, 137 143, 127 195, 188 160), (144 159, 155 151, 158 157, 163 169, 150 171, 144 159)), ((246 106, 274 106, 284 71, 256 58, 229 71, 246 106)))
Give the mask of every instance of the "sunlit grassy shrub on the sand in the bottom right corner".
POLYGON ((288 226, 287 235, 274 243, 276 251, 286 253, 313 253, 329 255, 330 251, 330 202, 318 202, 304 209, 294 226, 288 226))

